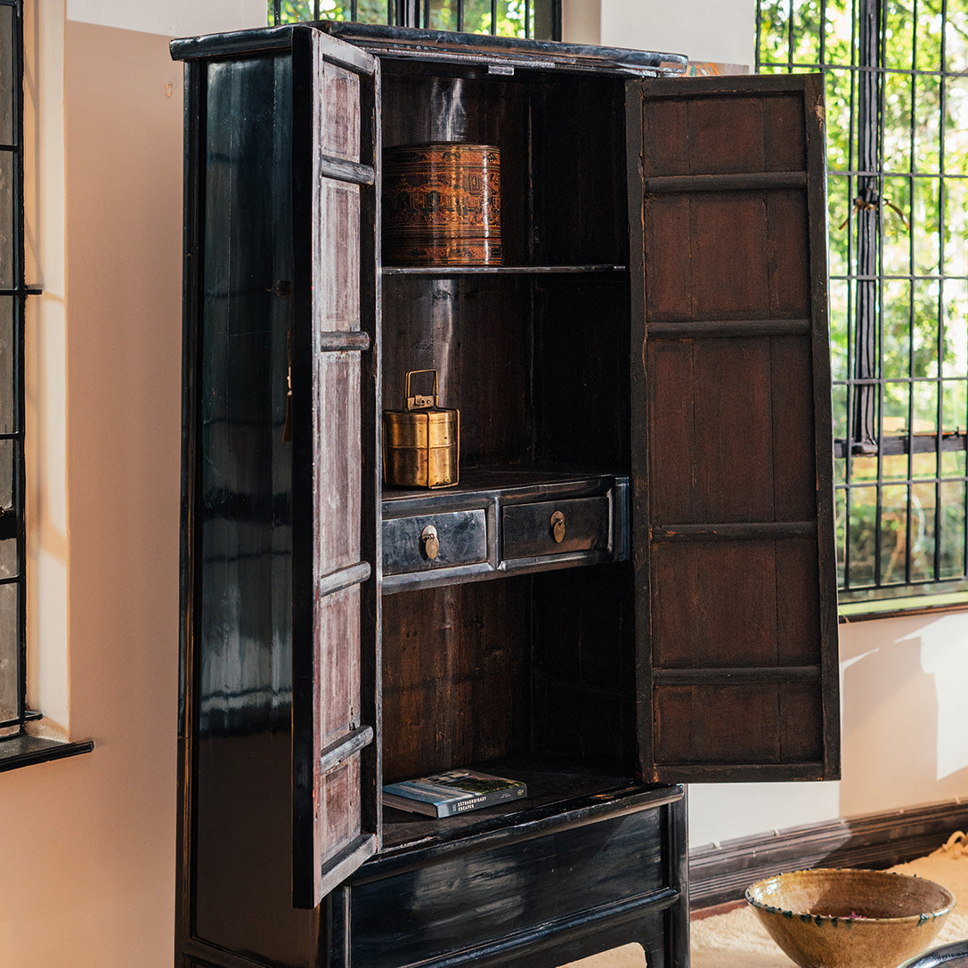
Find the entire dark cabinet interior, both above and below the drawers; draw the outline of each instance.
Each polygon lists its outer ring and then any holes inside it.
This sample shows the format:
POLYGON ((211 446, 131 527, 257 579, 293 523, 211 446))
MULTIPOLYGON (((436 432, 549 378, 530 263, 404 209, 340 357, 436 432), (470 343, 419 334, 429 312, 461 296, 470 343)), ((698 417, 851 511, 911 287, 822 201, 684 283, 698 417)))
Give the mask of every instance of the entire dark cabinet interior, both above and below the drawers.
MULTIPOLYGON (((500 149, 499 268, 384 266, 382 394, 439 371, 460 489, 495 472, 629 472, 629 289, 620 78, 384 62, 384 148, 500 149)), ((424 496, 429 512, 453 489, 424 496), (439 497, 442 496, 442 497, 439 497)), ((384 492, 387 502, 399 494, 384 492)), ((451 498, 452 499, 452 498, 451 498)), ((523 778, 515 809, 634 775, 628 561, 385 594, 383 780, 474 765, 523 778)), ((505 808, 506 809, 506 808, 505 808)), ((477 822, 384 810, 388 844, 477 822)))

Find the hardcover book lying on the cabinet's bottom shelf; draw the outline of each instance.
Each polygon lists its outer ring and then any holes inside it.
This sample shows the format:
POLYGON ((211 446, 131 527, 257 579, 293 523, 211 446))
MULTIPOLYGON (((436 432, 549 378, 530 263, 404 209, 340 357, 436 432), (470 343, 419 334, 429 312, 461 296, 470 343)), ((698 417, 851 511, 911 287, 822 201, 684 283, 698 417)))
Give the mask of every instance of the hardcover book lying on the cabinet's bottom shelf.
POLYGON ((452 817, 528 796, 528 787, 518 780, 473 770, 448 770, 383 787, 383 805, 429 817, 452 817))

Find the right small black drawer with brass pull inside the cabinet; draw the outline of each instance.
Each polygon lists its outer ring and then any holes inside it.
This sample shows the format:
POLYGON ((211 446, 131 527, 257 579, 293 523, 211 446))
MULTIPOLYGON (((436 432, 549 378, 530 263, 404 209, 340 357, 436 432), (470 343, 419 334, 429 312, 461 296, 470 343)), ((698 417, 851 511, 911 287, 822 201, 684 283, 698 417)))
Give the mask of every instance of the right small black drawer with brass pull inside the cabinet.
POLYGON ((601 551, 611 544, 611 530, 607 495, 505 505, 501 557, 510 560, 601 551))

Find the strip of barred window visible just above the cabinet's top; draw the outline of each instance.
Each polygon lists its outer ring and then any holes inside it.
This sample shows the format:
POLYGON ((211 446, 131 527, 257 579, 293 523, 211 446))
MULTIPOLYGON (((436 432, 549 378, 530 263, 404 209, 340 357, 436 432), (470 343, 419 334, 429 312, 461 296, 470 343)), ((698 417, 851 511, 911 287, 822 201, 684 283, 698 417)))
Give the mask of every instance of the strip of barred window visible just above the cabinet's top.
POLYGON ((269 0, 269 22, 353 20, 560 41, 561 0, 269 0))

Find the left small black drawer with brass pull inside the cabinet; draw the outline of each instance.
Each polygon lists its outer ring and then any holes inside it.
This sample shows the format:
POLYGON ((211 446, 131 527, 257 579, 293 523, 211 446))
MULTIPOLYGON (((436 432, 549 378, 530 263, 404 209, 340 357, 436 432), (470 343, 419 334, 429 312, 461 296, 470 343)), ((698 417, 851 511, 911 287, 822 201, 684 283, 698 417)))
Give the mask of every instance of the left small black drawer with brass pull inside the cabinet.
POLYGON ((483 508, 383 521, 383 574, 452 568, 487 560, 483 508), (436 539, 436 548, 431 538, 436 539))

